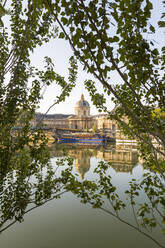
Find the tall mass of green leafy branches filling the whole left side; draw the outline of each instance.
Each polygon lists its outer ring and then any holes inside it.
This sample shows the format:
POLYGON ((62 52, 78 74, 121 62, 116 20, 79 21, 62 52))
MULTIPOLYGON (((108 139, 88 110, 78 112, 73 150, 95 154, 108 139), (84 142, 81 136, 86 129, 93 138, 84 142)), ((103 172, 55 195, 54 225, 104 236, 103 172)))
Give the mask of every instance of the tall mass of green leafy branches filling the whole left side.
POLYGON ((57 37, 58 28, 43 1, 12 0, 10 11, 6 11, 6 2, 0 1, 1 232, 22 221, 31 209, 64 193, 61 186, 64 178, 57 178, 50 164, 42 120, 37 130, 31 129, 31 121, 43 88, 52 82, 61 87, 55 105, 69 95, 77 73, 73 57, 68 83, 55 72, 49 57, 44 58, 44 68, 32 66, 31 54, 35 48, 57 37), (3 19, 4 14, 8 14, 7 19, 3 19))

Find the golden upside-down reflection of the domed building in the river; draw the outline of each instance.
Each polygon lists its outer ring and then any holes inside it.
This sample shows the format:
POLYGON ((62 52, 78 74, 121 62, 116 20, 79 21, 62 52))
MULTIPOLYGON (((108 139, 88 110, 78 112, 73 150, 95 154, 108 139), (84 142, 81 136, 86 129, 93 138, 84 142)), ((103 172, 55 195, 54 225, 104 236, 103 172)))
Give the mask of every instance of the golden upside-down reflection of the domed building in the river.
MULTIPOLYGON (((59 149, 60 154, 61 150, 62 148, 59 149)), ((137 150, 122 149, 121 146, 117 149, 111 146, 101 149, 67 146, 65 155, 74 158, 76 170, 82 179, 90 169, 91 157, 109 162, 116 172, 132 172, 133 167, 138 162, 137 150)))

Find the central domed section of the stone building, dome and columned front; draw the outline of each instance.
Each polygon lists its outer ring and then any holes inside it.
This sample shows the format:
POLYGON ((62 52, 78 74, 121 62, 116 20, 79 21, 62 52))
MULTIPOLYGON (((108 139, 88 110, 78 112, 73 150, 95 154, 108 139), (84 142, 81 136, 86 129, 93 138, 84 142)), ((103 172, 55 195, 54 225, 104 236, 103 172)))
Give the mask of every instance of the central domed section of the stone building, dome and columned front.
POLYGON ((81 99, 76 102, 75 115, 68 117, 69 128, 87 130, 93 127, 94 120, 90 116, 90 105, 81 95, 81 99))

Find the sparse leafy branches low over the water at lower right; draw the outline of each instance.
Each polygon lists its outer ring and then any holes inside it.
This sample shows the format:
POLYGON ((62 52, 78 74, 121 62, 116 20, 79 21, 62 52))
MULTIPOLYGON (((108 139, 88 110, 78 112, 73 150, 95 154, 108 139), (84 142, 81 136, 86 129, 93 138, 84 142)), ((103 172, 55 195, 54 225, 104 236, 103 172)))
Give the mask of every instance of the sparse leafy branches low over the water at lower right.
MULTIPOLYGON (((82 203, 88 203, 93 208, 113 216, 118 221, 130 226, 137 232, 149 238, 161 248, 165 248, 159 240, 154 237, 154 228, 159 228, 164 232, 164 186, 161 175, 146 173, 141 181, 132 179, 128 189, 124 192, 125 198, 121 199, 117 193, 117 188, 111 182, 108 173, 109 164, 99 162, 94 170, 97 179, 82 182, 74 181, 71 188, 82 203), (143 200, 142 196, 145 196, 143 200), (125 217, 128 208, 129 217, 125 217)), ((73 181, 72 181, 73 182, 73 181)), ((68 185, 69 187, 69 185, 68 185)), ((126 215, 127 216, 127 215, 126 215)))

